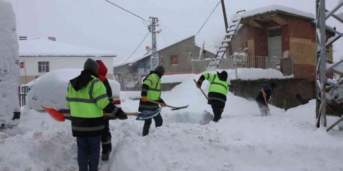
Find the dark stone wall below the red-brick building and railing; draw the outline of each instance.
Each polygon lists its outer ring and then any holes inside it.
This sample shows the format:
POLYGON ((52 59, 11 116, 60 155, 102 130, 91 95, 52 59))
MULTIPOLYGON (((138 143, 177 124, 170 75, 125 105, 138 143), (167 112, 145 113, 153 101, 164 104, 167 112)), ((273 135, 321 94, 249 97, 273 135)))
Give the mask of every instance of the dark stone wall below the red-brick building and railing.
MULTIPOLYGON (((264 80, 231 80, 230 91, 234 95, 254 100, 260 85, 264 80)), ((306 96, 308 99, 315 98, 315 82, 307 79, 270 79, 268 82, 275 82, 276 88, 273 91, 270 104, 284 109, 300 105, 295 99, 295 94, 306 96)))

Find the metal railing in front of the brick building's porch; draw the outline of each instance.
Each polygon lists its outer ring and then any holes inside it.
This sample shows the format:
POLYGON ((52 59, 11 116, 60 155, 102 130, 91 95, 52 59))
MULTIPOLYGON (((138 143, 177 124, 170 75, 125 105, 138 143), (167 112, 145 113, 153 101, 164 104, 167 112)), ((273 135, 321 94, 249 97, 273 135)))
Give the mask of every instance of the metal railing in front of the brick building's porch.
POLYGON ((229 59, 192 60, 192 72, 200 73, 216 69, 262 68, 281 69, 281 58, 232 55, 229 59))

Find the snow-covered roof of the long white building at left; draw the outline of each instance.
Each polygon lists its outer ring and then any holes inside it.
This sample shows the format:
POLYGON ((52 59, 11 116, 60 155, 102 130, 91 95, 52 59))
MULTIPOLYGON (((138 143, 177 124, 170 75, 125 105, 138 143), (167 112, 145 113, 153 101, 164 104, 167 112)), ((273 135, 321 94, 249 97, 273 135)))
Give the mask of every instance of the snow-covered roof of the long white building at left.
POLYGON ((117 56, 114 52, 44 38, 19 41, 19 56, 117 56))

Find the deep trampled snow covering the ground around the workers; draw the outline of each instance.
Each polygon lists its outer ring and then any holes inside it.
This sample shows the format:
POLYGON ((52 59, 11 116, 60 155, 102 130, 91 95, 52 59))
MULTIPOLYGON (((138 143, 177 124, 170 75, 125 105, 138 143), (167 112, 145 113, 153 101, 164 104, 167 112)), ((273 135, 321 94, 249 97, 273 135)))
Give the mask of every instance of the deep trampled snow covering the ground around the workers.
MULTIPOLYGON (((287 111, 270 106, 271 116, 261 117, 255 102, 229 92, 223 118, 213 123, 192 78, 162 98, 189 107, 164 108, 163 126, 153 123, 145 137, 134 116, 110 120, 113 151, 100 170, 343 170, 343 133, 315 127, 314 100, 287 111)), ((126 99, 122 108, 137 111, 138 101, 126 99)), ((328 125, 336 120, 328 117, 328 125)), ((0 132, 0 170, 78 170, 76 158, 69 120, 26 108, 17 127, 0 132)))

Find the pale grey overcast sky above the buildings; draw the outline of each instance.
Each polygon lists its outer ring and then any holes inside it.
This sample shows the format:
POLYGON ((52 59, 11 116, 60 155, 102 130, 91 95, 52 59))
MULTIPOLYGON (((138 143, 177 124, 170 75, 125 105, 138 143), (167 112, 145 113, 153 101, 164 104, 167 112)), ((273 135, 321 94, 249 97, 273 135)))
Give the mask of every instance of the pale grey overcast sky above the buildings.
MULTIPOLYGON (((135 50, 148 32, 142 19, 119 9, 104 0, 6 0, 13 4, 17 17, 19 36, 55 36, 58 41, 113 51, 118 54, 114 63, 125 60, 135 50)), ((175 43, 182 38, 195 35, 205 19, 219 1, 211 0, 125 0, 111 2, 145 18, 158 17, 162 33, 158 34, 158 47, 175 43)), ((338 0, 328 0, 327 9, 332 9, 338 0)), ((239 10, 252 10, 268 5, 282 5, 305 12, 315 13, 314 0, 225 0, 228 18, 239 10)), ((338 12, 341 12, 339 10, 338 12)), ((343 24, 329 19, 330 26, 337 26, 343 32, 343 24)), ((196 43, 206 46, 218 44, 225 35, 221 5, 209 18, 196 37, 196 43)), ((335 44, 334 58, 343 54, 335 44)), ((151 34, 145 39, 133 56, 145 52, 151 46, 151 34)))

